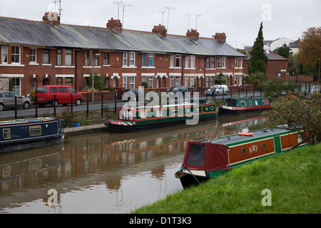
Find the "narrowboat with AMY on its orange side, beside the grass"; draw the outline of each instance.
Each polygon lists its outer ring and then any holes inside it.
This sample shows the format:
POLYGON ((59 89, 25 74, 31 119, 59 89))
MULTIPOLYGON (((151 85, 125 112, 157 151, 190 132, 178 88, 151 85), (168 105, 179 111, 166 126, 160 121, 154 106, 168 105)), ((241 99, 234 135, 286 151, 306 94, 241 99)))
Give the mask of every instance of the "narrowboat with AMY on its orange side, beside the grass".
POLYGON ((183 165, 175 173, 183 188, 199 185, 229 170, 292 147, 303 147, 302 131, 264 128, 197 142, 188 141, 183 165), (302 143, 302 144, 300 144, 302 143))

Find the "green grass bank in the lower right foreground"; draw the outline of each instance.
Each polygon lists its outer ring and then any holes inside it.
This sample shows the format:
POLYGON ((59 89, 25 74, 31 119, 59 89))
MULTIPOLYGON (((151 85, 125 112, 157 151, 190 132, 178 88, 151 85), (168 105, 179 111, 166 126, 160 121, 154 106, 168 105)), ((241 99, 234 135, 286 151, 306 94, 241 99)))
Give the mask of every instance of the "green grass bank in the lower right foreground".
POLYGON ((253 162, 132 213, 320 214, 320 151, 318 144, 253 162), (262 204, 265 189, 270 190, 271 206, 262 204))

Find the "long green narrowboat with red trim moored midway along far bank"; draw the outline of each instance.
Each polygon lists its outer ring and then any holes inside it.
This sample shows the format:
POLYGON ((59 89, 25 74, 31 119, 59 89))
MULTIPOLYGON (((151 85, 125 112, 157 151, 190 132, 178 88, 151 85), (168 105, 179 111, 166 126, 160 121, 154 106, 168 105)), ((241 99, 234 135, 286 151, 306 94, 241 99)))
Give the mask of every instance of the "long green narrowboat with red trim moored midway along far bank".
POLYGON ((110 132, 138 132, 183 123, 192 125, 199 120, 215 119, 217 115, 215 102, 199 100, 198 103, 119 108, 117 119, 107 120, 105 125, 110 132))

